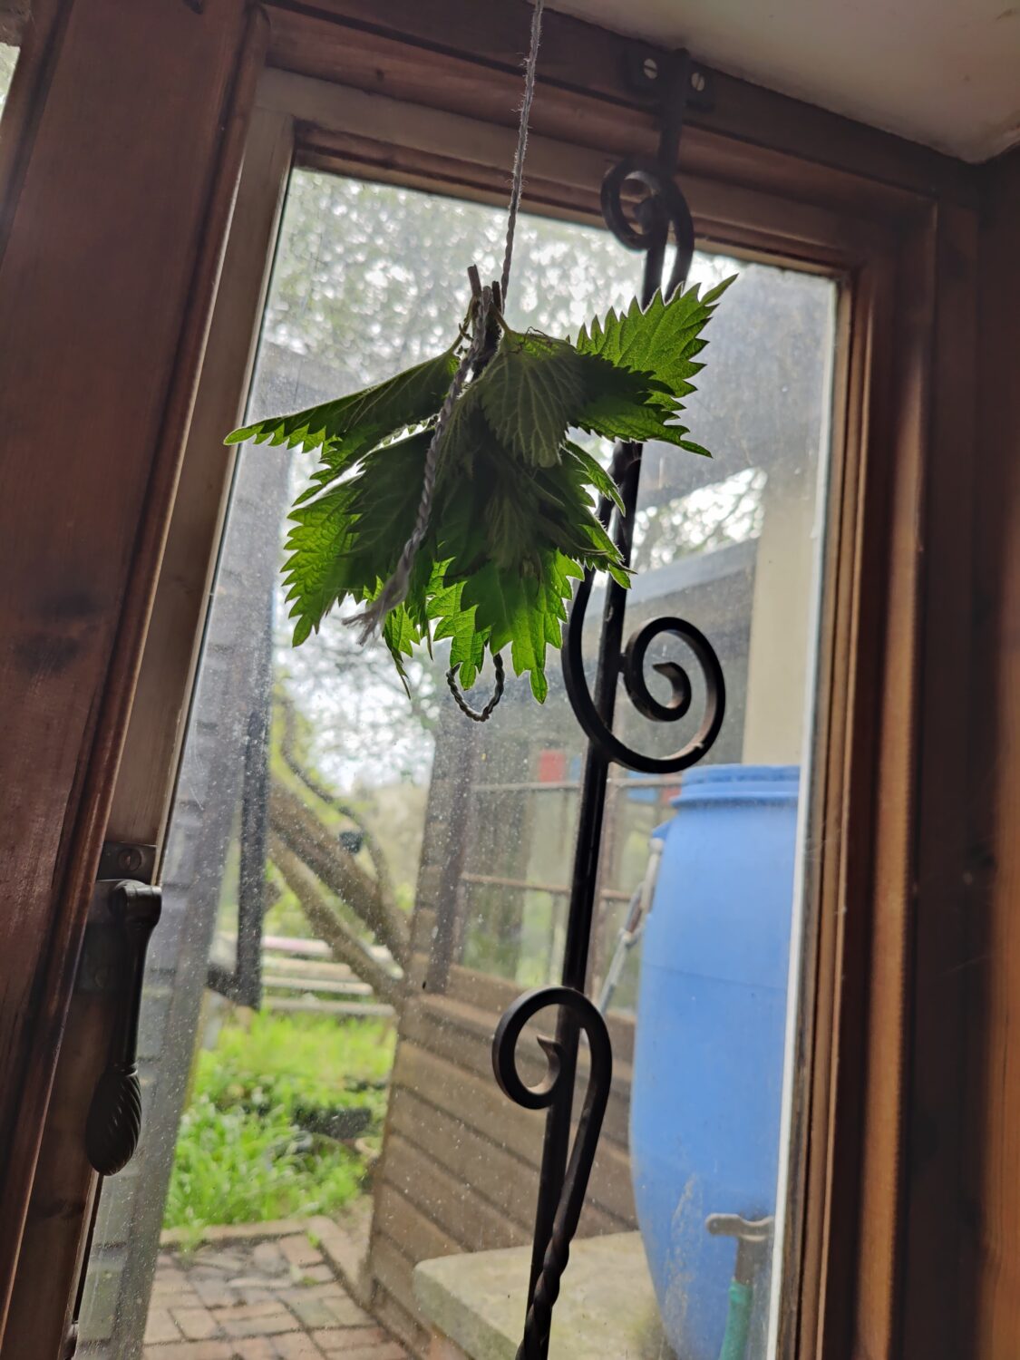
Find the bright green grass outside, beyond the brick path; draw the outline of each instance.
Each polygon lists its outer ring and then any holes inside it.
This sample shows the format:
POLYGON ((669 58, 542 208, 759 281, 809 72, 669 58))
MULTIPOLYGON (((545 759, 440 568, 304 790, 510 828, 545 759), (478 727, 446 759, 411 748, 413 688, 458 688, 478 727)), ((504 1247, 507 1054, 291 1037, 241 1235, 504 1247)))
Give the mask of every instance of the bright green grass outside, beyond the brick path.
POLYGON ((214 1223, 335 1213, 363 1189, 366 1161, 305 1133, 299 1107, 366 1106, 378 1141, 394 1035, 375 1020, 252 1017, 199 1054, 181 1119, 163 1225, 196 1239, 214 1223))

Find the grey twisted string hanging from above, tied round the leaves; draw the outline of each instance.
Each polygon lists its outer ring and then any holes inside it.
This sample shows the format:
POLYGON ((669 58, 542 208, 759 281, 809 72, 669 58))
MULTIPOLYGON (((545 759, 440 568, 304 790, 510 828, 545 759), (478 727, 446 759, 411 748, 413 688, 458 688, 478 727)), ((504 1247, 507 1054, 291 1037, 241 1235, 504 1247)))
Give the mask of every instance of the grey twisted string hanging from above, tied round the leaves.
MULTIPOLYGON (((539 42, 541 38, 541 16, 545 8, 545 0, 534 0, 534 14, 532 15, 532 37, 530 49, 528 52, 528 60, 525 63, 525 78, 524 78, 524 99, 521 101, 521 122, 517 129, 517 151, 514 154, 514 173, 513 182, 510 188, 510 208, 506 218, 506 248, 503 250, 503 276, 499 286, 499 306, 506 309, 506 292, 510 286, 510 265, 514 257, 514 234, 517 231, 517 214, 521 207, 521 193, 524 192, 524 160, 528 151, 528 122, 532 114, 532 101, 534 99, 534 71, 539 64, 539 42)), ((486 333, 488 326, 488 313, 492 307, 492 288, 486 287, 481 290, 477 306, 475 307, 475 332, 472 336, 471 345, 457 366, 457 371, 450 382, 450 390, 446 393, 446 400, 442 404, 442 409, 435 422, 435 428, 432 430, 432 438, 428 443, 428 453, 426 454, 424 462, 424 476, 422 481, 422 499, 418 503, 418 515, 415 518, 415 528, 411 537, 404 544, 404 551, 400 554, 400 560, 397 562, 393 575, 389 578, 386 585, 379 592, 378 597, 367 605, 362 613, 354 615, 351 619, 344 619, 348 624, 360 624, 360 635, 358 641, 363 645, 375 632, 375 630, 382 624, 390 609, 394 609, 407 598, 408 589, 411 586, 411 570, 415 564, 415 556, 418 549, 424 541, 424 536, 428 533, 428 521, 432 513, 432 496, 435 494, 435 476, 439 465, 439 453, 442 449, 443 437, 446 435, 446 428, 450 423, 450 416, 453 415, 453 408, 464 390, 464 384, 468 381, 471 370, 477 363, 481 350, 486 344, 486 333)), ((502 694, 502 685, 498 685, 502 694)), ((496 703, 499 698, 496 696, 496 703)), ((495 706, 495 704, 494 704, 495 706)), ((490 710, 491 711, 491 710, 490 710)), ((488 717, 488 713, 486 714, 488 717)), ((484 719, 483 719, 484 721, 484 719)))

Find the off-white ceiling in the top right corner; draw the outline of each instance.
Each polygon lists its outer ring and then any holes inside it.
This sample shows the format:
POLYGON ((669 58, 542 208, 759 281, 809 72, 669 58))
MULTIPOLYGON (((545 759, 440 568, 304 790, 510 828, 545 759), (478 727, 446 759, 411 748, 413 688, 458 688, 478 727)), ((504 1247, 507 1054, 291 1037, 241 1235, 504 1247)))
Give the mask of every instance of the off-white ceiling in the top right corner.
POLYGON ((549 3, 967 160, 1020 141, 1020 0, 549 3))

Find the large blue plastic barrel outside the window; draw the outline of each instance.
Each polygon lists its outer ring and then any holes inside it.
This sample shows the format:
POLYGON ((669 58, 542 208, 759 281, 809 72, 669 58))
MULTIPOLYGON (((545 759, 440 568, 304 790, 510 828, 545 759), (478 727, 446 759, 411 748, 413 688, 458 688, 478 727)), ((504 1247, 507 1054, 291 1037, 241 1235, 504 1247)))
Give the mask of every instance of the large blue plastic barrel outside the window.
MULTIPOLYGON (((677 1360, 718 1360, 736 1261, 711 1213, 775 1212, 796 766, 688 771, 642 941, 631 1175, 677 1360)), ((748 1360, 762 1353, 767 1281, 748 1360)))

